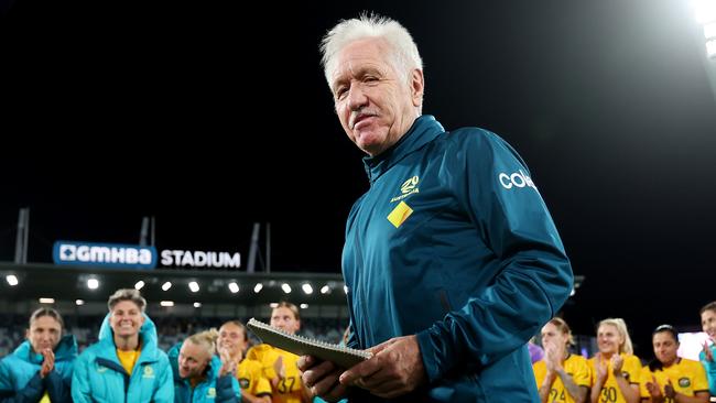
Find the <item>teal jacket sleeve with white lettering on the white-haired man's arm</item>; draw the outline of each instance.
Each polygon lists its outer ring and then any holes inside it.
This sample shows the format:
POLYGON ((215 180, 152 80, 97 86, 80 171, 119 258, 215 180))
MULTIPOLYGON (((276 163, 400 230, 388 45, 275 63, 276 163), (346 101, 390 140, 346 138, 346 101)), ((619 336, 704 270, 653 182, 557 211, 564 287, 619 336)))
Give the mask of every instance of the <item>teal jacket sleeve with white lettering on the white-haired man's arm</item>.
POLYGON ((451 185, 499 270, 465 306, 417 334, 431 382, 458 363, 488 366, 523 346, 573 286, 552 217, 517 152, 480 131, 451 155, 451 185))

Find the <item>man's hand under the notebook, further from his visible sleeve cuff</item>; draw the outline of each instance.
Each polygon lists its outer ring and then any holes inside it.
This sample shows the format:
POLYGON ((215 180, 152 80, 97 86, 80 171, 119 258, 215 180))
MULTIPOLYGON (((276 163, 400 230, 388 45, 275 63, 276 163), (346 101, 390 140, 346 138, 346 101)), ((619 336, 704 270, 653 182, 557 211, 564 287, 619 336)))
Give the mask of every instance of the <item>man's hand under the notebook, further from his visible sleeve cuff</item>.
POLYGON ((330 361, 321 361, 313 356, 302 356, 299 359, 299 370, 303 384, 314 395, 328 402, 337 402, 348 394, 348 386, 338 382, 343 370, 330 361))

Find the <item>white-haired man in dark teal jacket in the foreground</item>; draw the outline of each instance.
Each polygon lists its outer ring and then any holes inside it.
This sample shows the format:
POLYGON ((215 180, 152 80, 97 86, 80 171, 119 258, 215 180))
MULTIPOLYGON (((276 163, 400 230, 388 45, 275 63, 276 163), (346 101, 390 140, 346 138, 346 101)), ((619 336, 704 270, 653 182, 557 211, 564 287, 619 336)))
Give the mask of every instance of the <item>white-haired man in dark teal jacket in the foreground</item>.
POLYGON ((328 401, 536 402, 527 342, 573 274, 518 153, 478 128, 422 115, 422 59, 397 21, 362 15, 324 37, 336 113, 370 188, 347 221, 348 370, 299 366, 328 401))

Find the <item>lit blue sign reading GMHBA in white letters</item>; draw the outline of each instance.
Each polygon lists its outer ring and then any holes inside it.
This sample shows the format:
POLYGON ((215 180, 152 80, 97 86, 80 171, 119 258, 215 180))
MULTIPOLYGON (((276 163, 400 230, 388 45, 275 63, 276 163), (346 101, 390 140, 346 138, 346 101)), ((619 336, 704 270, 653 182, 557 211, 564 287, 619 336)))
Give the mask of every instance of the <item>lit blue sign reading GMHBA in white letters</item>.
POLYGON ((55 264, 154 269, 156 249, 133 244, 56 241, 52 259, 55 264))

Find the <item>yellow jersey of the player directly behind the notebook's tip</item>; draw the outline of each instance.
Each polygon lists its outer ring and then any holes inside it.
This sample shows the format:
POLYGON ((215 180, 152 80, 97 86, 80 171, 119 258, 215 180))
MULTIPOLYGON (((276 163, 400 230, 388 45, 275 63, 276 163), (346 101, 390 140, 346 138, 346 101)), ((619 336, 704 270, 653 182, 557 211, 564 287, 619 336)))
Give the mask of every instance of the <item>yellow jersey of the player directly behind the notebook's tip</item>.
POLYGON ((299 356, 267 344, 254 346, 246 353, 247 359, 261 362, 263 374, 269 380, 278 377, 273 363, 279 357, 283 357, 286 375, 279 381, 279 384, 271 388, 273 403, 302 403, 304 401, 303 382, 301 371, 299 371, 299 356))

